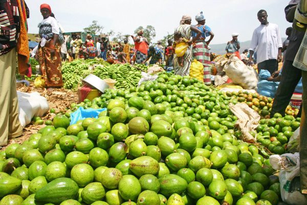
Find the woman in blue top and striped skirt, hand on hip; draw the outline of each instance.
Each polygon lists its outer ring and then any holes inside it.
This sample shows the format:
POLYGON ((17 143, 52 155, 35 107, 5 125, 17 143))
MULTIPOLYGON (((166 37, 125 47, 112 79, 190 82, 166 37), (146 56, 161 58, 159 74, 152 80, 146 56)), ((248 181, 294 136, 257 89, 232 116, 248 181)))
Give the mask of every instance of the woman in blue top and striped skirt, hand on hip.
MULTIPOLYGON (((204 66, 204 83, 206 85, 211 84, 211 69, 210 69, 210 53, 208 45, 214 37, 210 27, 205 25, 206 18, 203 12, 200 12, 195 16, 195 20, 198 24, 195 26, 202 32, 202 36, 199 40, 196 40, 196 44, 193 46, 193 59, 200 61, 204 66), (206 37, 210 36, 209 40, 205 40, 206 37)), ((195 37, 197 33, 192 31, 192 37, 195 37)))

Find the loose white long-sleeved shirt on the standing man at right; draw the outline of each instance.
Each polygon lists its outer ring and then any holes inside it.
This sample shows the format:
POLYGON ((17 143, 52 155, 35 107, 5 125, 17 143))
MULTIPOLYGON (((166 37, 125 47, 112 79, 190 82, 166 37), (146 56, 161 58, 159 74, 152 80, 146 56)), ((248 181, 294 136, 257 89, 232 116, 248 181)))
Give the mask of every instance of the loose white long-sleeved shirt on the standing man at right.
POLYGON ((268 59, 277 59, 278 48, 282 48, 282 42, 276 24, 260 25, 254 30, 249 50, 257 51, 257 64, 268 59))

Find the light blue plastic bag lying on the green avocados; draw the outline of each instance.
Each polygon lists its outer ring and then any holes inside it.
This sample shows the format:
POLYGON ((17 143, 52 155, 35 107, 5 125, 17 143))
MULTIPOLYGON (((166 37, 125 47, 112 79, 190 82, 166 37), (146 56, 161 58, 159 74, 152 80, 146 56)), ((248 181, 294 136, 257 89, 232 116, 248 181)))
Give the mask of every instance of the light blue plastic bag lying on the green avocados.
POLYGON ((93 109, 93 108, 89 108, 89 109, 84 109, 83 107, 79 107, 78 110, 76 110, 75 112, 73 112, 71 114, 71 125, 74 125, 77 123, 78 120, 80 119, 85 119, 87 117, 93 117, 93 118, 98 118, 99 113, 101 113, 102 111, 105 111, 106 108, 101 108, 101 109, 93 109))

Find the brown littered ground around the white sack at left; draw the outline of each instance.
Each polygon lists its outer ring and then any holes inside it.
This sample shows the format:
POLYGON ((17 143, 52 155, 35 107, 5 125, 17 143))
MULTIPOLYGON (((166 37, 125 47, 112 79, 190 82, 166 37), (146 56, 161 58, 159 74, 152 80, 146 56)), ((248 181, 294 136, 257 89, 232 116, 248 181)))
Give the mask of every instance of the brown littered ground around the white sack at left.
MULTIPOLYGON (((66 89, 54 89, 53 91, 48 91, 44 88, 35 88, 32 84, 31 86, 23 86, 17 88, 20 92, 25 93, 32 93, 38 92, 41 96, 46 97, 49 103, 49 108, 54 108, 55 113, 59 113, 61 111, 65 111, 70 107, 71 103, 78 102, 78 94, 76 91, 66 90, 66 89)), ((41 118, 43 120, 52 119, 55 116, 54 113, 47 112, 41 118)), ((10 144, 21 144, 23 141, 27 140, 31 134, 37 133, 39 129, 45 127, 45 125, 34 125, 32 122, 31 124, 27 125, 24 128, 24 134, 18 138, 9 139, 8 145, 10 144)), ((2 150, 5 150, 6 147, 3 147, 2 150)))

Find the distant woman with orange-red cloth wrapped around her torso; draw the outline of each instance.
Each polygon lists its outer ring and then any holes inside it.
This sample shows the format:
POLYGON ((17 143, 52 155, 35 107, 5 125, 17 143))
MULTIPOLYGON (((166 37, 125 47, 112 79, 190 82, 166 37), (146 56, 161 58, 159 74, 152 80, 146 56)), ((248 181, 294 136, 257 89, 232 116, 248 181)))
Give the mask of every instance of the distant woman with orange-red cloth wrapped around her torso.
POLYGON ((135 42, 135 48, 137 50, 136 52, 136 63, 141 64, 144 60, 147 58, 148 54, 148 40, 143 37, 143 30, 138 31, 138 36, 134 37, 131 35, 135 42))

